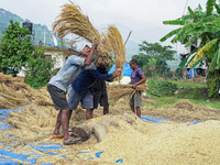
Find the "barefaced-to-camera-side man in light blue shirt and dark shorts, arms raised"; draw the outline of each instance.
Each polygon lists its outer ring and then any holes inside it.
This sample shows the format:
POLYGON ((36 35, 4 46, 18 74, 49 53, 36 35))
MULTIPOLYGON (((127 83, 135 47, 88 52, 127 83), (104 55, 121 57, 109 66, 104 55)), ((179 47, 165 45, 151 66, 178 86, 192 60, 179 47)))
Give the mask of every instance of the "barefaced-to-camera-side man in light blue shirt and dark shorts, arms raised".
POLYGON ((96 69, 95 64, 94 63, 91 64, 91 62, 94 58, 95 48, 97 47, 98 44, 99 40, 95 40, 91 48, 88 45, 86 45, 81 50, 80 57, 75 55, 69 56, 64 66, 56 74, 56 76, 51 78, 47 86, 54 106, 56 110, 59 110, 53 136, 54 138, 63 136, 59 133, 59 128, 62 124, 65 145, 74 144, 80 141, 79 138, 72 138, 68 134, 70 109, 66 100, 67 87, 76 79, 76 77, 84 69, 96 69))

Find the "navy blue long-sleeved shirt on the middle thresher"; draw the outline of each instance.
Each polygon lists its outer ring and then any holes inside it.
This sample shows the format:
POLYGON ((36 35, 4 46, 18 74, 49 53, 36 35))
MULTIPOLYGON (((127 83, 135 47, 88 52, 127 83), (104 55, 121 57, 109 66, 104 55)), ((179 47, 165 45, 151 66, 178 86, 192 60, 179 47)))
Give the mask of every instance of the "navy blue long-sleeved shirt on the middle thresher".
POLYGON ((88 91, 96 79, 98 80, 109 80, 112 78, 112 74, 100 74, 108 73, 105 68, 98 67, 96 70, 84 70, 72 84, 72 87, 80 95, 88 91))

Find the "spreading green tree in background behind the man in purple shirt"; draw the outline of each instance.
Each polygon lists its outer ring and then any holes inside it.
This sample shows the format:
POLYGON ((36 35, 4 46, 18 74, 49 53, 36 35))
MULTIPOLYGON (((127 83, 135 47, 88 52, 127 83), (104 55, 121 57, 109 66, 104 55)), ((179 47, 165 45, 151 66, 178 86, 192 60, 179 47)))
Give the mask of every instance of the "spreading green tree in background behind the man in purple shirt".
POLYGON ((139 55, 132 56, 139 63, 139 67, 144 70, 146 76, 163 76, 168 73, 167 61, 173 61, 175 51, 172 46, 162 46, 160 43, 148 43, 143 41, 139 45, 139 55))

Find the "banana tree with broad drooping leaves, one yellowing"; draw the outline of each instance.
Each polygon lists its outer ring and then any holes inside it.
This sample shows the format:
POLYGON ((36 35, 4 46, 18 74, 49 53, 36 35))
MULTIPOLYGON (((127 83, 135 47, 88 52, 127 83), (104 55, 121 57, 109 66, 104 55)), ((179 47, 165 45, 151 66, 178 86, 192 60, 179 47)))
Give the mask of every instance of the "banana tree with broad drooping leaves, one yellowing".
POLYGON ((194 57, 188 61, 189 55, 180 64, 180 68, 188 65, 195 67, 206 62, 208 66, 207 82, 210 97, 219 96, 220 88, 220 8, 216 1, 207 1, 206 12, 202 12, 200 4, 197 11, 193 11, 188 7, 189 14, 177 20, 164 21, 164 24, 182 26, 161 38, 164 42, 175 35, 172 43, 182 42, 186 47, 190 46, 198 37, 201 38, 199 47, 190 54, 194 57), (213 12, 215 8, 217 12, 213 12))

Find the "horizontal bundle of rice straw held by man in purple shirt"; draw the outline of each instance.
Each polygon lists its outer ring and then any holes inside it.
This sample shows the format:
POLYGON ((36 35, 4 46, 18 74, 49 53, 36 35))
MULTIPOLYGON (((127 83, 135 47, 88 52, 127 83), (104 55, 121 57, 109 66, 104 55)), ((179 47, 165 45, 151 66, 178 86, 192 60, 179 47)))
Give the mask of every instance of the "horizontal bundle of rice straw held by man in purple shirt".
POLYGON ((135 94, 135 91, 144 92, 147 90, 147 84, 139 85, 135 89, 131 85, 109 85, 108 91, 110 100, 117 102, 119 99, 130 96, 130 98, 135 94))

